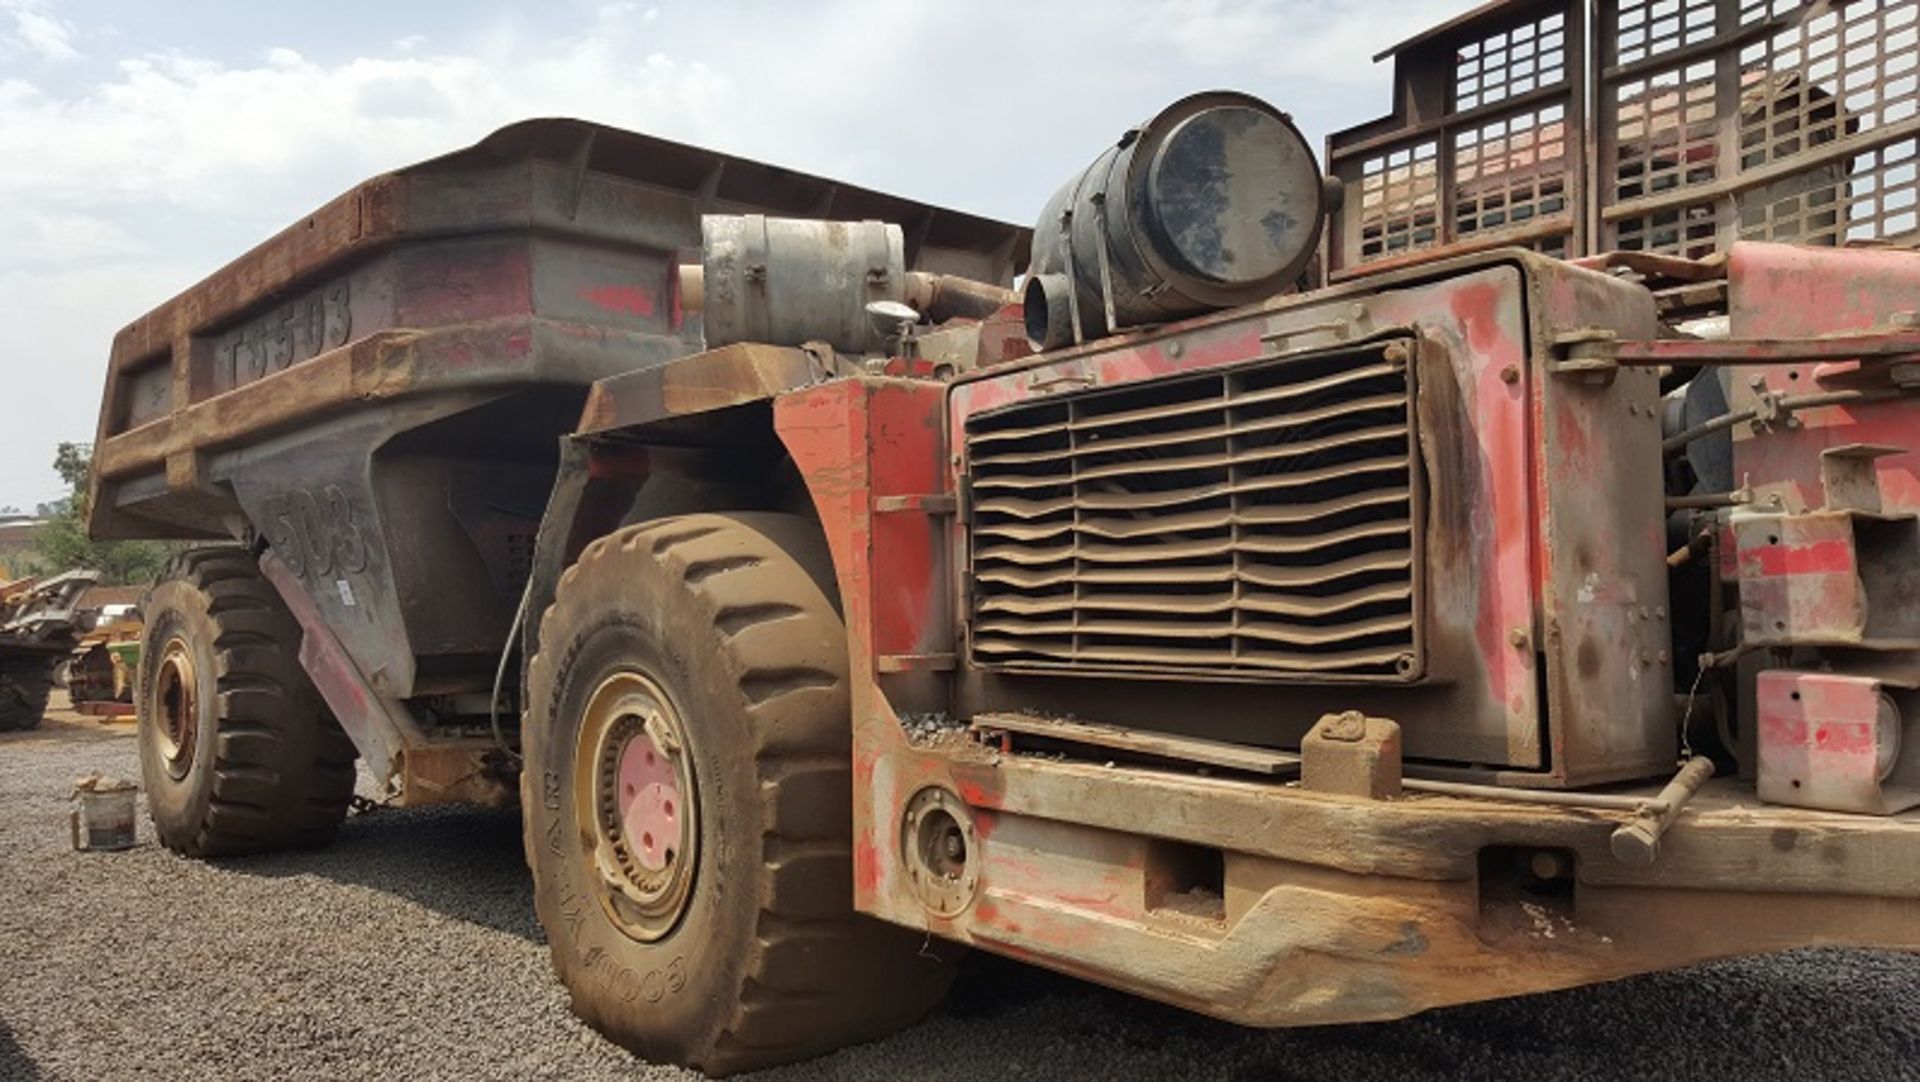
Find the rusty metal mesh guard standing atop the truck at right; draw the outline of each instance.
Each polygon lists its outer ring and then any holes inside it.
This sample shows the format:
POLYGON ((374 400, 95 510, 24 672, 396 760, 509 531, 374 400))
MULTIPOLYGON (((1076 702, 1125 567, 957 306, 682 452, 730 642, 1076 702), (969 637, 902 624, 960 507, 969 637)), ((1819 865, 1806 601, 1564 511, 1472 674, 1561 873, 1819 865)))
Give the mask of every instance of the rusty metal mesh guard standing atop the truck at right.
POLYGON ((1417 263, 1484 238, 1567 257, 1920 242, 1916 12, 1488 4, 1390 50, 1392 115, 1329 138, 1348 192, 1329 267, 1417 263))

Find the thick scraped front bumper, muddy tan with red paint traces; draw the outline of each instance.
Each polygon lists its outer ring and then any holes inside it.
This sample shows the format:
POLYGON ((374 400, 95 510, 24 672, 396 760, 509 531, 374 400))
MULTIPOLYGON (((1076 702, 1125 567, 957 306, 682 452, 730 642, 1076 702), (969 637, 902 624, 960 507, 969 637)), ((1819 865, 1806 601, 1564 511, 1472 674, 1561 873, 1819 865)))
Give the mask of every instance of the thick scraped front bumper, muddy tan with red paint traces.
POLYGON ((927 783, 962 796, 977 888, 937 917, 906 850, 876 848, 862 907, 1242 1024, 1396 1019, 1801 946, 1920 950, 1914 813, 1764 808, 1711 783, 1634 867, 1609 852, 1628 812, 1356 800, 958 742, 876 765, 881 806, 927 783), (1511 875, 1536 859, 1559 877, 1511 875))

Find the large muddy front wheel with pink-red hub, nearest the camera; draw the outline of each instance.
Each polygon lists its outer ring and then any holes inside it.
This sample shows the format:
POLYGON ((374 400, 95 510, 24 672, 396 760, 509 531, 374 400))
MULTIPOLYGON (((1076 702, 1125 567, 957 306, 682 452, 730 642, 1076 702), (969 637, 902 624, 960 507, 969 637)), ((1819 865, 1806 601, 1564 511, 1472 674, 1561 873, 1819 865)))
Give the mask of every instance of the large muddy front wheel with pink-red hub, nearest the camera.
POLYGON ((804 1059, 920 1021, 952 982, 941 944, 852 911, 831 583, 810 522, 693 514, 589 545, 541 620, 534 900, 574 1011, 651 1061, 804 1059))

